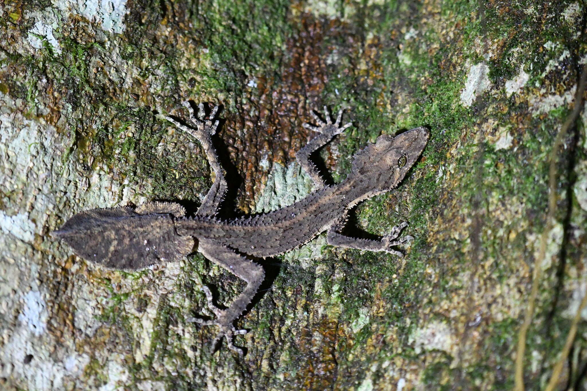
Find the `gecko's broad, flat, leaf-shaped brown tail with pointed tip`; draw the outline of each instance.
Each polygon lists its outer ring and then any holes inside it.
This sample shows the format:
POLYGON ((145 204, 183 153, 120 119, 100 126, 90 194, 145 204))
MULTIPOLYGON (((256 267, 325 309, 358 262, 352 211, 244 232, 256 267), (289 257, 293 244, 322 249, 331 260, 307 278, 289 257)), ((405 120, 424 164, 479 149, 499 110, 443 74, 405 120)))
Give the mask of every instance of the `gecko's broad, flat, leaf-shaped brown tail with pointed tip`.
POLYGON ((141 215, 131 208, 92 209, 77 213, 51 233, 83 259, 117 269, 139 269, 179 260, 194 240, 177 234, 168 213, 141 215))

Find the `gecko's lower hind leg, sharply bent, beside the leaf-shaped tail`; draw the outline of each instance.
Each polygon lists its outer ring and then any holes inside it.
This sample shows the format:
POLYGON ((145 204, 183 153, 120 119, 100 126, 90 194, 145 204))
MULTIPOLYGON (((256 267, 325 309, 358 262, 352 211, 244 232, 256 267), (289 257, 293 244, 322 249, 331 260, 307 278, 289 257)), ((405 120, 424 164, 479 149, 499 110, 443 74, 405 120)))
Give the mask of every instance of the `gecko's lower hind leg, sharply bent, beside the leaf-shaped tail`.
POLYGON ((203 319, 190 318, 189 321, 203 325, 218 326, 220 331, 214 339, 214 342, 212 342, 212 346, 215 346, 217 342, 225 336, 228 348, 242 355, 242 349, 237 348, 237 346, 232 344, 232 336, 246 334, 247 331, 235 329, 232 327, 232 322, 234 322, 234 320, 245 311, 247 305, 249 305, 252 298, 257 293, 259 285, 261 285, 265 278, 265 271, 261 265, 246 259, 235 253, 235 251, 229 247, 224 246, 224 244, 215 242, 214 240, 201 239, 198 245, 198 251, 200 251, 207 259, 224 267, 226 270, 230 271, 230 273, 244 280, 247 283, 247 286, 226 310, 221 310, 214 305, 210 289, 204 286, 203 289, 208 300, 208 305, 210 305, 212 312, 216 315, 216 319, 204 321, 203 319))

